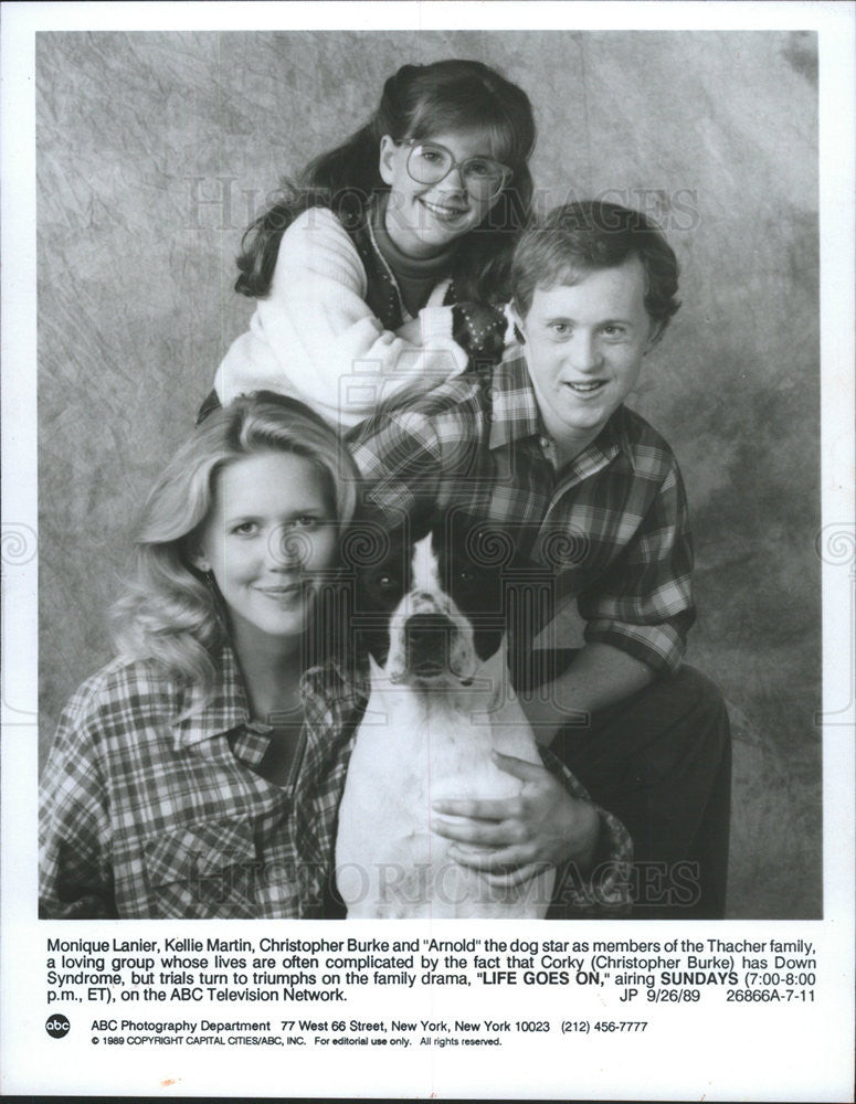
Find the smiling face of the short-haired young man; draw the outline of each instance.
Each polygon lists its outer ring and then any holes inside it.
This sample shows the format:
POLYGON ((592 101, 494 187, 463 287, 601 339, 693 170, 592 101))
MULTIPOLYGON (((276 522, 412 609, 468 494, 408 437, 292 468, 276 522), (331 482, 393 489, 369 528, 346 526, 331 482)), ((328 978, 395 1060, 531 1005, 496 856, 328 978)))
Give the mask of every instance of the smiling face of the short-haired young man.
POLYGON ((563 459, 594 440, 638 379, 658 327, 645 309, 638 257, 537 287, 518 327, 538 406, 563 459))

